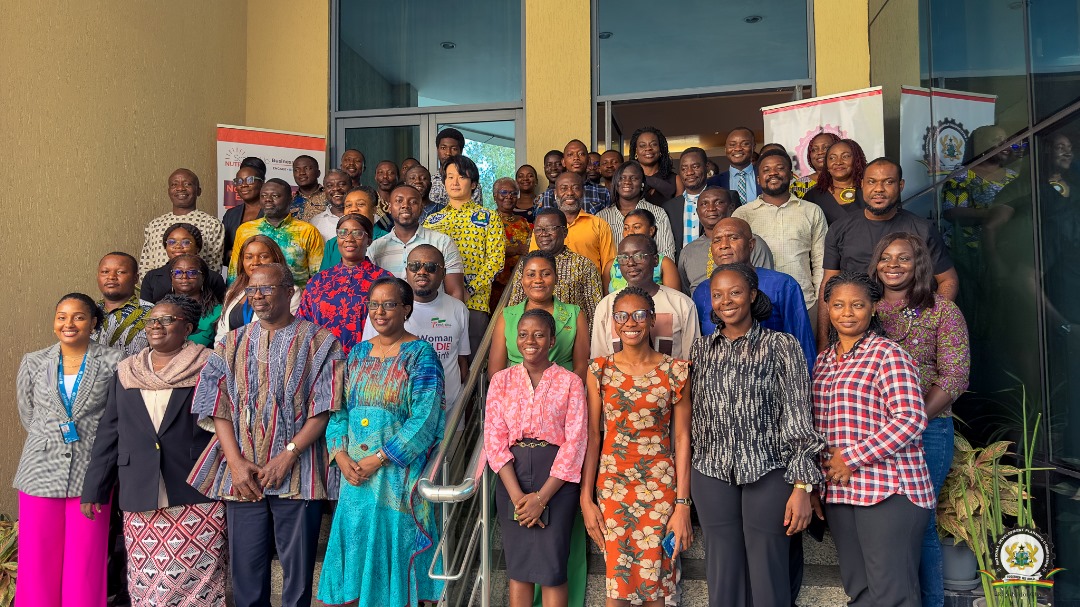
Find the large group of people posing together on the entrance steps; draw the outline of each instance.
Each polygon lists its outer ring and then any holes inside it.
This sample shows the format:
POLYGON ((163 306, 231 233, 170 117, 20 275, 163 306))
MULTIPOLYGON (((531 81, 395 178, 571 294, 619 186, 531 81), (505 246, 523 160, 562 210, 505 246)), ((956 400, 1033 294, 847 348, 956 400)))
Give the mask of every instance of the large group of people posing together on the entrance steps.
POLYGON ((794 604, 825 518, 853 605, 942 604, 968 337, 895 162, 823 133, 795 180, 737 129, 720 172, 649 127, 625 160, 550 152, 542 191, 523 165, 489 210, 461 133, 437 141, 437 170, 381 161, 377 188, 360 150, 297 158, 295 191, 245 159, 220 220, 170 176, 138 258, 104 256, 102 298, 64 296, 22 362, 19 604, 100 607, 119 579, 134 605, 222 605, 227 582, 269 605, 274 555, 286 606, 437 602, 415 487, 492 323, 511 605, 583 605, 586 538, 609 606, 673 601, 691 509, 711 605, 794 604))

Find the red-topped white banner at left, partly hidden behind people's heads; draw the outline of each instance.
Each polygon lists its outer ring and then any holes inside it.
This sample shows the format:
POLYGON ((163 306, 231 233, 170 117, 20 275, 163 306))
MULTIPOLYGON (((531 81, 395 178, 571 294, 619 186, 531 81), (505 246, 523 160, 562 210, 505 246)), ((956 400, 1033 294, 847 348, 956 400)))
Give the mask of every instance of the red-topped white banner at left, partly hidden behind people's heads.
POLYGON ((232 179, 237 176, 240 163, 249 156, 257 157, 267 165, 267 179, 278 177, 288 181, 296 191, 293 181, 293 161, 296 157, 307 154, 319 162, 319 167, 326 172, 326 138, 303 133, 270 131, 251 126, 217 125, 217 214, 225 215, 226 210, 240 204, 237 199, 232 179))

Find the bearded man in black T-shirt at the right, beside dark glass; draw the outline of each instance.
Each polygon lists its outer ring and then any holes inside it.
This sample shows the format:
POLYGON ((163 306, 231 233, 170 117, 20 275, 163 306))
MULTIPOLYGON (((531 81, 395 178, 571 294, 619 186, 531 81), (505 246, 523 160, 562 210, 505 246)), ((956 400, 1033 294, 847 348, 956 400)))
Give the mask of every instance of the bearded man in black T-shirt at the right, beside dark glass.
MULTIPOLYGON (((866 272, 870 255, 881 237, 893 232, 910 232, 927 243, 930 258, 934 264, 934 280, 937 295, 955 299, 960 279, 953 267, 953 259, 941 232, 929 220, 901 208, 900 194, 904 191, 904 173, 900 164, 879 158, 866 165, 863 173, 862 192, 865 206, 862 213, 852 213, 833 224, 825 239, 824 275, 820 294, 824 301, 824 288, 828 279, 843 270, 866 272)), ((819 306, 818 346, 824 348, 828 332, 828 314, 824 304, 819 306)))

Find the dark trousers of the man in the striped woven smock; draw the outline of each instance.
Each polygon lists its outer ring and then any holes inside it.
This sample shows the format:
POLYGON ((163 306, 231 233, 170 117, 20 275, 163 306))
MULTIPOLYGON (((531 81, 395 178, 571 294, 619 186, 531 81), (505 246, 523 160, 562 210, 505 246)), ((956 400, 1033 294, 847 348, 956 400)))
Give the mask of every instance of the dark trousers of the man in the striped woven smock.
POLYGON ((229 567, 237 607, 270 607, 270 558, 276 548, 282 607, 310 607, 322 502, 266 496, 226 502, 229 567))

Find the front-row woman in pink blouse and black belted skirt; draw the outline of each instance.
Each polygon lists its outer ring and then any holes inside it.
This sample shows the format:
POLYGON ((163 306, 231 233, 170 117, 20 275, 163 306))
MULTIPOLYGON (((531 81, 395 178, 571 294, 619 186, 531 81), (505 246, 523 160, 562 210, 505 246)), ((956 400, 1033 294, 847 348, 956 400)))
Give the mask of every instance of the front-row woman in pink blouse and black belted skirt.
POLYGON ((551 362, 555 319, 521 315, 521 364, 495 373, 484 417, 484 453, 498 474, 495 503, 510 579, 511 607, 568 604, 570 530, 577 514, 588 419, 581 378, 551 362))

